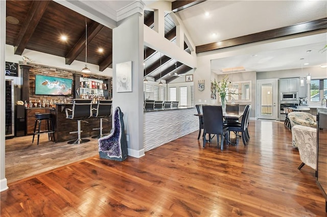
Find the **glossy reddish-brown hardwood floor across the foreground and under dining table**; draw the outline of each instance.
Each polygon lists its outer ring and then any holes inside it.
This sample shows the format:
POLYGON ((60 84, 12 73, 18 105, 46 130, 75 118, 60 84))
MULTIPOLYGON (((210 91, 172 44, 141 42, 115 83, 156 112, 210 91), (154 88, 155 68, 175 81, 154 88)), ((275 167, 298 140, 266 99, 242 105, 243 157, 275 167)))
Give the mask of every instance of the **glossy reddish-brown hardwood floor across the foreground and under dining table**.
POLYGON ((216 139, 203 149, 196 131, 123 162, 100 159, 97 143, 49 149, 41 143, 37 149, 54 152, 45 157, 53 162, 74 158, 57 149, 83 153, 95 146, 96 153, 10 182, 1 193, 1 216, 327 216, 315 171, 297 170, 301 161, 284 124, 250 120, 249 134, 247 146, 241 140, 220 151, 216 139))

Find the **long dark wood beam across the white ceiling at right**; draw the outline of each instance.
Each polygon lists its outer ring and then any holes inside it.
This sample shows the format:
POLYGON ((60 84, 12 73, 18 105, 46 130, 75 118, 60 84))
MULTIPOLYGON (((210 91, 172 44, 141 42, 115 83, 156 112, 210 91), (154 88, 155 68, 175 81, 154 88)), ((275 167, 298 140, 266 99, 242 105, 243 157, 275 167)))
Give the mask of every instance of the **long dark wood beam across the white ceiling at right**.
POLYGON ((254 33, 237 38, 227 39, 224 41, 204 44, 196 46, 196 53, 206 52, 211 50, 222 49, 226 47, 238 46, 248 43, 265 41, 269 39, 291 36, 300 33, 312 32, 317 30, 327 29, 327 18, 319 20, 303 22, 283 28, 268 30, 260 33, 254 33))

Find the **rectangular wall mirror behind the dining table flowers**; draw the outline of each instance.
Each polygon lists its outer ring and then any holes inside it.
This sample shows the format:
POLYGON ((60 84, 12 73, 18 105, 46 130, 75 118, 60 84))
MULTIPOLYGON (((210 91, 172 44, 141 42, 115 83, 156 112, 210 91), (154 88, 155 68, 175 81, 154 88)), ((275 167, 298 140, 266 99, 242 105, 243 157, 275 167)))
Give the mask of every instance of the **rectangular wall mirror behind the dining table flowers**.
POLYGON ((251 81, 247 80, 244 82, 232 82, 231 88, 228 90, 230 94, 228 101, 234 102, 250 102, 251 101, 251 81), (239 95, 237 95, 239 94, 239 95))

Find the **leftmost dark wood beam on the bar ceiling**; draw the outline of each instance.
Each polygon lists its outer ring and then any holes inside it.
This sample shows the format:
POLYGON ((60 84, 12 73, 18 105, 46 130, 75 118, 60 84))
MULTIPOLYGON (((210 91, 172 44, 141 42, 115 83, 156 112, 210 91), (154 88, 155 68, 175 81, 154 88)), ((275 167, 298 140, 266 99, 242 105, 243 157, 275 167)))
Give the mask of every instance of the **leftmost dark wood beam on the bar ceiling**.
POLYGON ((32 37, 37 24, 43 16, 46 7, 48 7, 50 1, 33 1, 28 16, 22 24, 21 30, 18 33, 15 42, 15 55, 22 55, 22 52, 26 48, 27 43, 32 37))

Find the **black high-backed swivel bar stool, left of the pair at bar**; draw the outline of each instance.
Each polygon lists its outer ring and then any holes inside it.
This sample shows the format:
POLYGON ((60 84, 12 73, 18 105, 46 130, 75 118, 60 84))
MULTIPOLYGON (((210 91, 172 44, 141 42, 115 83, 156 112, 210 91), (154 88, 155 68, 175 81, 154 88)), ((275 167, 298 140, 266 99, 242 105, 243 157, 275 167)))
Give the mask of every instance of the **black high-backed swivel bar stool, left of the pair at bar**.
POLYGON ((78 133, 78 139, 69 141, 68 144, 81 144, 90 141, 81 139, 81 121, 88 123, 85 120, 92 116, 92 99, 74 99, 73 109, 66 108, 65 112, 66 118, 77 120, 77 131, 75 132, 78 133))

